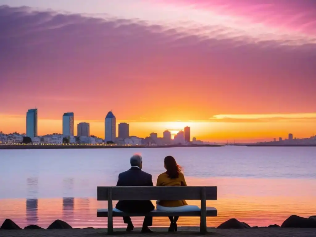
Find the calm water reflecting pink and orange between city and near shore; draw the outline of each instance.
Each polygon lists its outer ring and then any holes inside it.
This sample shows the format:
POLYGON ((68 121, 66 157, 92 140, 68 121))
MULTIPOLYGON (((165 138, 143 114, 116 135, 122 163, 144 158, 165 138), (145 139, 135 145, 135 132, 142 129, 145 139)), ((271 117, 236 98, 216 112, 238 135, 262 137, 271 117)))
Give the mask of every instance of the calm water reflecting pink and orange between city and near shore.
MULTIPOLYGON (((218 200, 207 202, 218 217, 208 218, 208 226, 229 218, 265 226, 292 214, 316 215, 316 147, 0 150, 0 222, 45 228, 62 219, 73 227, 106 227, 106 218, 96 218, 96 210, 107 207, 96 201, 96 187, 116 185, 134 153, 143 156, 154 184, 164 157, 173 155, 188 185, 218 186, 218 200)), ((143 218, 132 220, 140 226, 143 218)), ((199 218, 178 223, 198 225, 199 218)), ((125 226, 121 218, 114 225, 125 226)), ((154 218, 154 226, 167 225, 167 217, 154 218)))

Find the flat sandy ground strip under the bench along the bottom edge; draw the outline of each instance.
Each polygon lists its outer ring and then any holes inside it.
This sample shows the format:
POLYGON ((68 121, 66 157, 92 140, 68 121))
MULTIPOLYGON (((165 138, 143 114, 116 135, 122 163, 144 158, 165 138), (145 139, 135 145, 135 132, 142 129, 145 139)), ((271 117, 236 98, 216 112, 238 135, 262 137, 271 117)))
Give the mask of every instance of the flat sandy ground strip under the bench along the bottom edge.
MULTIPOLYGON (((139 228, 133 232, 125 232, 125 229, 114 229, 114 236, 138 237, 138 236, 202 236, 198 233, 198 227, 178 227, 178 232, 167 232, 167 228, 152 228, 155 233, 142 234, 139 228)), ((259 229, 215 229, 208 228, 206 236, 227 237, 315 237, 314 229, 292 228, 259 228, 259 229)), ((66 230, 0 230, 1 237, 101 237, 106 235, 106 229, 66 229, 66 230)))

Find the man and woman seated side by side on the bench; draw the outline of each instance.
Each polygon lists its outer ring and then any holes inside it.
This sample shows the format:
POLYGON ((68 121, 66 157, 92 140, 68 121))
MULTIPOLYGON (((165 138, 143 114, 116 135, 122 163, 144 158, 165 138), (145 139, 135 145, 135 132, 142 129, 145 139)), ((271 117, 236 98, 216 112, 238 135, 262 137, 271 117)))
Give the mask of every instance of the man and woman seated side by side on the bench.
MULTIPOLYGON (((142 171, 143 159, 140 155, 131 157, 131 169, 119 174, 119 180, 116 186, 154 186, 151 174, 142 171)), ((177 164, 172 156, 165 157, 164 166, 167 170, 158 176, 157 186, 186 186, 182 168, 177 164)), ((198 206, 188 205, 185 200, 158 200, 156 202, 157 210, 161 211, 194 211, 200 210, 198 206)), ((113 211, 145 213, 155 209, 151 201, 119 201, 113 211)), ((179 216, 169 216, 170 227, 168 231, 177 231, 177 221, 179 216)), ((126 231, 134 229, 129 216, 123 217, 127 224, 126 231)), ((153 218, 145 216, 143 222, 143 233, 152 232, 148 227, 152 225, 153 218)))

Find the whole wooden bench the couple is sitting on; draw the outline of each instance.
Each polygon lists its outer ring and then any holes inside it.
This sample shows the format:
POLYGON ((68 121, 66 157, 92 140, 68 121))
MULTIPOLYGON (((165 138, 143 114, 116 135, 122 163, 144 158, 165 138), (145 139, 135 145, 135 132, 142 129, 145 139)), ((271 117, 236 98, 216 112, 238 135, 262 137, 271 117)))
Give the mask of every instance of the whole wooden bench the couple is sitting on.
POLYGON ((200 233, 205 234, 206 216, 217 216, 214 207, 206 207, 206 200, 217 200, 216 186, 113 186, 97 187, 97 200, 108 201, 108 209, 98 209, 97 217, 107 217, 107 233, 113 233, 113 216, 200 216, 200 233), (147 213, 113 212, 112 201, 122 200, 201 200, 201 211, 147 213))

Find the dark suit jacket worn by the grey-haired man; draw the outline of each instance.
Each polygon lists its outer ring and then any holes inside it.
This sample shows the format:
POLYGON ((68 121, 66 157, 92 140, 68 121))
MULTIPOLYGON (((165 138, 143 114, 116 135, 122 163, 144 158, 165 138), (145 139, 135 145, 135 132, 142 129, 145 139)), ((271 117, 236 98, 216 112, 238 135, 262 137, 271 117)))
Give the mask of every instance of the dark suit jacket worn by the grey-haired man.
MULTIPOLYGON (((138 167, 131 167, 119 174, 116 186, 154 186, 151 174, 142 171, 138 167)), ((151 201, 119 201, 115 208, 130 213, 149 212, 155 209, 151 201)))

